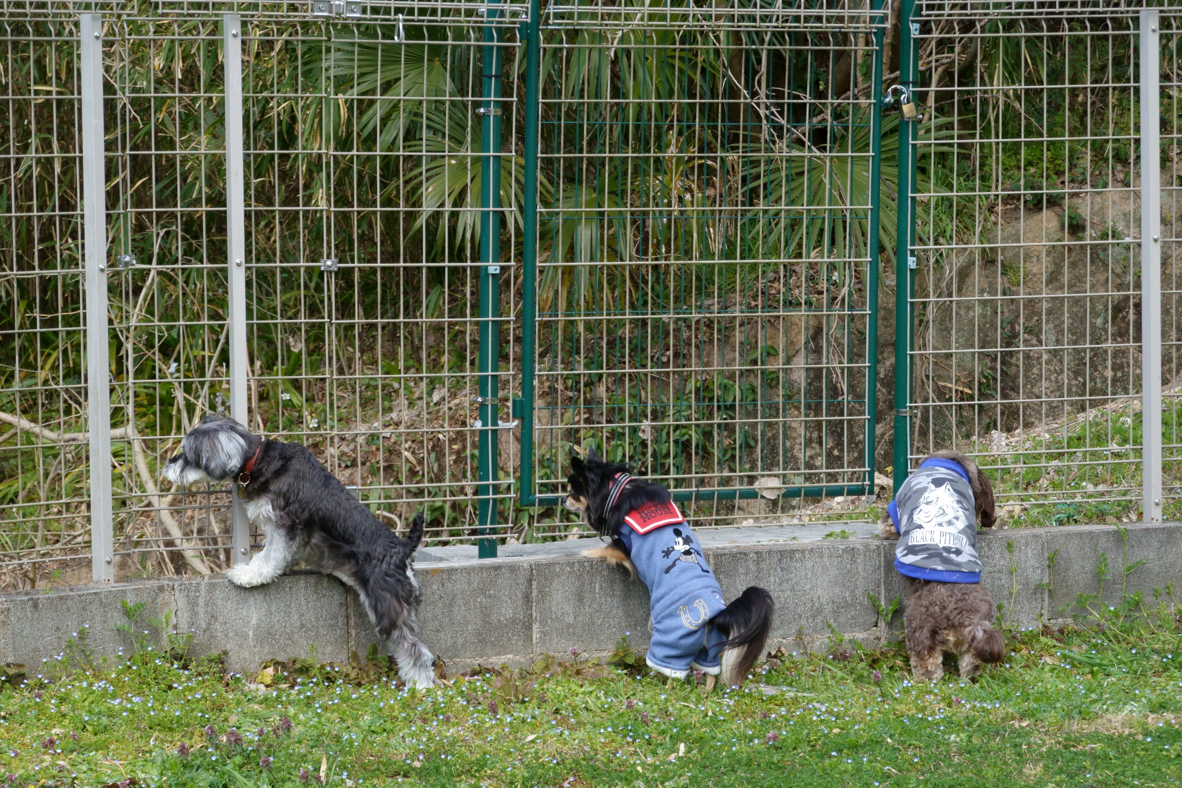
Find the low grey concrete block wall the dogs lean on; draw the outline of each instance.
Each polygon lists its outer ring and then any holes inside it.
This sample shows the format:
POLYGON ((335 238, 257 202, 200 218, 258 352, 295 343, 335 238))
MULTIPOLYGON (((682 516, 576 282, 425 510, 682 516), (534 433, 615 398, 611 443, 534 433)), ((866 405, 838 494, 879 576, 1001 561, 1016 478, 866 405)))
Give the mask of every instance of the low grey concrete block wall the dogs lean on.
MULTIPOLYGON (((1112 526, 1066 526, 982 533, 979 547, 994 603, 1012 608, 1007 618, 1020 625, 1059 619, 1060 607, 1079 593, 1098 593, 1102 554, 1111 575, 1105 604, 1119 600, 1124 549, 1129 565, 1147 561, 1129 575, 1129 592, 1151 598, 1168 584, 1182 591, 1176 525, 1130 526, 1126 545, 1112 526), (1054 551, 1052 572, 1047 559, 1054 551)), ((889 605, 903 593, 891 564, 894 542, 878 539, 735 545, 706 554, 727 599, 748 585, 772 593, 773 645, 791 649, 824 643, 829 625, 865 643, 881 642, 888 632, 866 594, 889 605)), ((423 588, 423 639, 449 671, 530 663, 572 647, 603 653, 624 632, 635 647, 648 645, 648 592, 600 561, 547 555, 424 562, 415 569, 423 588)), ((335 578, 297 574, 243 590, 215 575, 0 594, 0 663, 35 667, 52 660, 84 624, 93 653, 115 657, 131 645, 115 629, 124 620, 122 600, 145 603, 142 621, 171 611, 176 626, 194 634, 191 653, 225 651, 235 672, 252 672, 268 658, 307 656, 313 644, 317 658, 345 660, 377 640, 356 594, 335 578)))

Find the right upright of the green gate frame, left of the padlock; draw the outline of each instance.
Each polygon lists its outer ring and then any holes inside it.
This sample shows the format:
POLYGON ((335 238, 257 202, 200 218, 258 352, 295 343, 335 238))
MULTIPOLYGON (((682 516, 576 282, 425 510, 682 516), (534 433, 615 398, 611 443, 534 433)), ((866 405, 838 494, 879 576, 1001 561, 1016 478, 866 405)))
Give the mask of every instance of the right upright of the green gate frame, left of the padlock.
MULTIPOLYGON (((873 0, 870 5, 871 17, 875 12, 882 17, 884 0, 873 0)), ((888 17, 889 20, 889 17, 888 17)), ((882 91, 883 85, 883 28, 875 30, 875 61, 870 78, 871 96, 882 91)), ((866 276, 866 307, 870 319, 866 325, 866 495, 875 494, 875 428, 878 425, 878 266, 882 265, 878 249, 878 208, 882 200, 882 131, 883 105, 875 102, 870 111, 870 227, 866 232, 866 247, 870 253, 870 271, 866 276)))

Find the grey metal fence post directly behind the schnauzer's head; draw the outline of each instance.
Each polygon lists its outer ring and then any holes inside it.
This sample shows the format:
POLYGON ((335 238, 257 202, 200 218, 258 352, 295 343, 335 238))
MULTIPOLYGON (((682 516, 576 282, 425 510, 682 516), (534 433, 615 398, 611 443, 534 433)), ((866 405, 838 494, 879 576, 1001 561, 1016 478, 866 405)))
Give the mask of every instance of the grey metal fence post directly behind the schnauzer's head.
MULTIPOLYGON (((242 19, 222 15, 226 90, 226 281, 229 291, 229 415, 248 428, 246 410, 246 189, 242 145, 242 19)), ((251 560, 251 521, 238 495, 232 500, 232 564, 251 560)))

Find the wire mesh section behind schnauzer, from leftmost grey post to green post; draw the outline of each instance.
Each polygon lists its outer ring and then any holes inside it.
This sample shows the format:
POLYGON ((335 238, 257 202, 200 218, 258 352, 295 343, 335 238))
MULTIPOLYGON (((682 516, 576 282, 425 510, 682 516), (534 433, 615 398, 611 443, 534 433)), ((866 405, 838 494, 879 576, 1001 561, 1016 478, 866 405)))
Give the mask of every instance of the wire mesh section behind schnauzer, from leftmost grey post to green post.
MULTIPOLYGON (((111 99, 128 133, 116 235, 147 262, 119 280, 117 390, 151 436, 128 450, 117 547, 154 572, 177 568, 167 551, 197 572, 232 560, 228 494, 155 480, 202 415, 230 410, 220 27, 128 21, 111 99)), ((307 445, 394 527, 426 503, 428 540, 475 517, 480 32, 242 30, 248 426, 307 445)))

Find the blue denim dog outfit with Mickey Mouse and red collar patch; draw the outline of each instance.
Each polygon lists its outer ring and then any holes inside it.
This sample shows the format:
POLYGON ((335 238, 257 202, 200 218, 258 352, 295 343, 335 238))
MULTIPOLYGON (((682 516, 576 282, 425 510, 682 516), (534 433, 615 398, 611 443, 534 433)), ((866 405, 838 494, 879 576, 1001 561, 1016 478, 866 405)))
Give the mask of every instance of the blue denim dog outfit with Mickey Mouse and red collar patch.
MULTIPOLYGON (((616 480, 608 508, 626 483, 626 475, 616 480)), ((649 587, 649 667, 673 678, 684 678, 690 670, 717 676, 722 650, 716 646, 726 636, 708 621, 726 607, 722 588, 677 504, 645 503, 624 516, 616 535, 649 587)))

